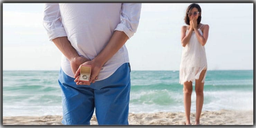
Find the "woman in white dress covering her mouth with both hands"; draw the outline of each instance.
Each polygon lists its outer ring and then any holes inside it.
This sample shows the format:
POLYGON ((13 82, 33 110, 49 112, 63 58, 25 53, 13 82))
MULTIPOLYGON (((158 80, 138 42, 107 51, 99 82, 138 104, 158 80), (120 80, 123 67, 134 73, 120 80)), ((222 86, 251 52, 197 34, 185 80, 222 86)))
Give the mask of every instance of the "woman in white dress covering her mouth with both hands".
POLYGON ((184 18, 188 26, 181 28, 181 44, 184 47, 180 65, 180 84, 183 84, 186 125, 190 123, 192 82, 195 81, 196 118, 194 125, 199 125, 203 107, 203 86, 207 70, 204 45, 208 39, 209 25, 201 24, 201 8, 190 4, 184 18))

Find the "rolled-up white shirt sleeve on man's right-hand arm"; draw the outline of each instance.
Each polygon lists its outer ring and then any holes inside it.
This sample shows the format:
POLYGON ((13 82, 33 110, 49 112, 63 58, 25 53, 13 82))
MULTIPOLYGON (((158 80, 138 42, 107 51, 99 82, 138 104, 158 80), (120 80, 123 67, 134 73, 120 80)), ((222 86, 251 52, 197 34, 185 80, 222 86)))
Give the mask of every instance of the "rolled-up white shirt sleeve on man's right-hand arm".
POLYGON ((115 30, 124 31, 131 38, 137 31, 140 18, 141 3, 122 3, 121 22, 115 30))

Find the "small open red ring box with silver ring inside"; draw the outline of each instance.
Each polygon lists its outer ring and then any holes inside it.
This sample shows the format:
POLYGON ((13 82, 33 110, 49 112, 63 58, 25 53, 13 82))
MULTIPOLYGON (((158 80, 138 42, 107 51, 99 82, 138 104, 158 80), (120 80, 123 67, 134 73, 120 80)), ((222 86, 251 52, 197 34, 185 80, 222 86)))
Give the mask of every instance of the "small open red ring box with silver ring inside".
POLYGON ((89 83, 91 76, 91 65, 81 66, 79 82, 89 83))

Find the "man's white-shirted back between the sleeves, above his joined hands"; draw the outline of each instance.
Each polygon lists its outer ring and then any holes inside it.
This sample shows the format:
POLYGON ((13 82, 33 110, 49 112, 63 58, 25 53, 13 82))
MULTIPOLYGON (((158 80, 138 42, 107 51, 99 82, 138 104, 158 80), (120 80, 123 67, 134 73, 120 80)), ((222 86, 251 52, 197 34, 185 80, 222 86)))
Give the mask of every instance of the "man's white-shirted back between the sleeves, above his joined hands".
POLYGON ((90 60, 106 46, 120 23, 121 3, 60 3, 62 23, 72 46, 90 60))

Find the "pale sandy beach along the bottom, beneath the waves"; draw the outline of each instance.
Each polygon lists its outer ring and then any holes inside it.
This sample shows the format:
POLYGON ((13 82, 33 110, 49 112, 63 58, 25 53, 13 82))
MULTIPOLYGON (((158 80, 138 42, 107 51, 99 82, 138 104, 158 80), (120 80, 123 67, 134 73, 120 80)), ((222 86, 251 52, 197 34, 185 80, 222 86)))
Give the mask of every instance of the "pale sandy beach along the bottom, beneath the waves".
MULTIPOLYGON (((191 113, 191 123, 195 113, 191 113)), ((3 125, 62 125, 62 116, 3 117, 3 125)), ((129 125, 184 125, 184 112, 129 113, 129 125)), ((91 125, 98 125, 95 115, 91 125)), ((253 125, 253 111, 203 111, 201 125, 253 125)))

